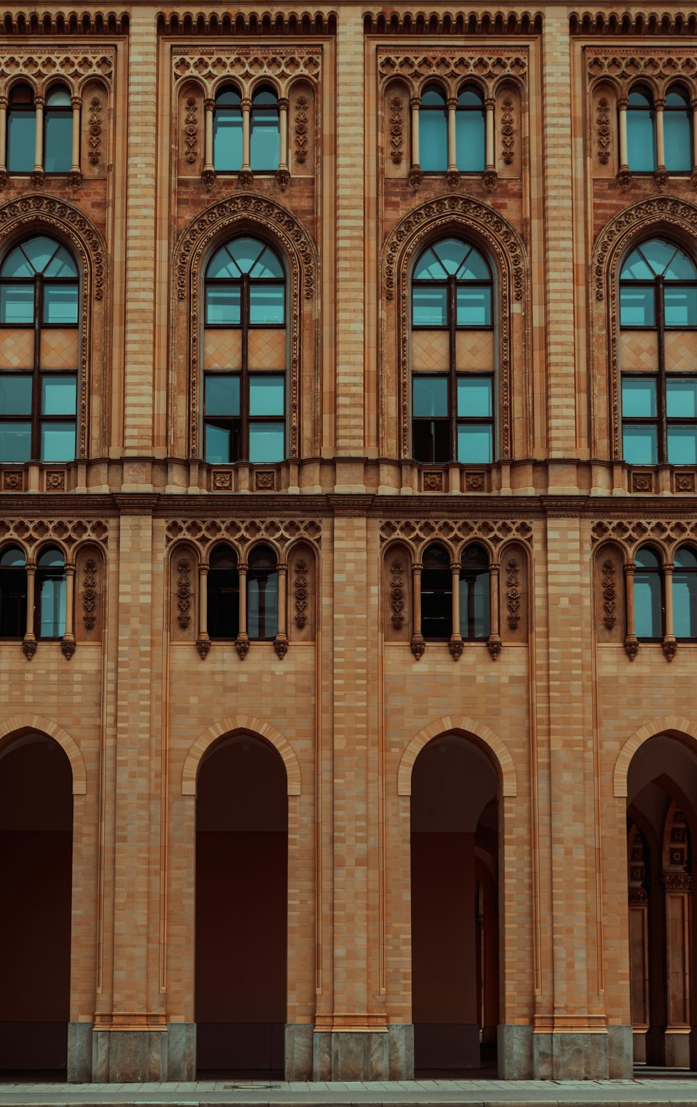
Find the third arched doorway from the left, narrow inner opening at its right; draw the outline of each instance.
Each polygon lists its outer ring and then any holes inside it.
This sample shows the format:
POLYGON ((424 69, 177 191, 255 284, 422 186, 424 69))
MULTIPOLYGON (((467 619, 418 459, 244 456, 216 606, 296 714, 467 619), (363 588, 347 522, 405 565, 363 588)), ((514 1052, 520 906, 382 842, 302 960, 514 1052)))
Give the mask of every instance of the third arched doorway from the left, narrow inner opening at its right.
POLYGON ((446 734, 412 775, 415 1068, 496 1061, 499 1022, 498 779, 471 741, 446 734))

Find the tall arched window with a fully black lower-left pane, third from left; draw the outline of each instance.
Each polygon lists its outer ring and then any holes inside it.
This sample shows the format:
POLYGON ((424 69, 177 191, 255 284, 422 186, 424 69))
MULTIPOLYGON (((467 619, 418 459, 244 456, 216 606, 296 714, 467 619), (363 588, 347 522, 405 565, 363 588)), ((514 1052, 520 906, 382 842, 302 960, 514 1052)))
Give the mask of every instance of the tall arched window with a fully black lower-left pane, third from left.
POLYGON ((412 277, 412 416, 417 462, 493 458, 491 270, 471 242, 445 238, 412 277))

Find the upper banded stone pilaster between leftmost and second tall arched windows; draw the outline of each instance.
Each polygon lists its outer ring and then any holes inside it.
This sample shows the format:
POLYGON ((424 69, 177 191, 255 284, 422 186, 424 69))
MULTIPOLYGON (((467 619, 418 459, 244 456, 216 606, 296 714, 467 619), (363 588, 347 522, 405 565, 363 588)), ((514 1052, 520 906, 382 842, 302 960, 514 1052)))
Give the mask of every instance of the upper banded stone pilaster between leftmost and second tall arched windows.
POLYGON ((124 451, 153 443, 155 341, 157 19, 138 8, 131 19, 126 224, 124 451))

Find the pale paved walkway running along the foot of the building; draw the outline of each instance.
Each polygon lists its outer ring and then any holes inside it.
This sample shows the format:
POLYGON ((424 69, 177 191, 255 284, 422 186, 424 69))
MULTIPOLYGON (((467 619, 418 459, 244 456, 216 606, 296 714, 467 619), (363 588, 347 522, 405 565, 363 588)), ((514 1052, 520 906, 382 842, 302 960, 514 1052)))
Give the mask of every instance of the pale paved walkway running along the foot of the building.
POLYGON ((283 1080, 196 1080, 186 1084, 10 1084, 0 1083, 3 1105, 75 1107, 399 1107, 462 1104, 467 1107, 590 1107, 593 1104, 697 1105, 697 1073, 638 1076, 634 1080, 370 1080, 288 1084, 283 1080))

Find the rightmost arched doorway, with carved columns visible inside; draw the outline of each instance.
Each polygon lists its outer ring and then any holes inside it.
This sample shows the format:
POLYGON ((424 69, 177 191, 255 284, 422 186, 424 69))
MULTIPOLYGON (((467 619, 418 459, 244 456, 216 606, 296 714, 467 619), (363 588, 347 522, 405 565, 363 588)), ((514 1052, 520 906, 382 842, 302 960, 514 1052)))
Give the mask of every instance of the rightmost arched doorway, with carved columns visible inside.
POLYGON ((627 890, 635 1064, 695 1067, 697 751, 659 734, 627 774, 627 890), (691 1059, 690 1059, 691 1054, 691 1059))

